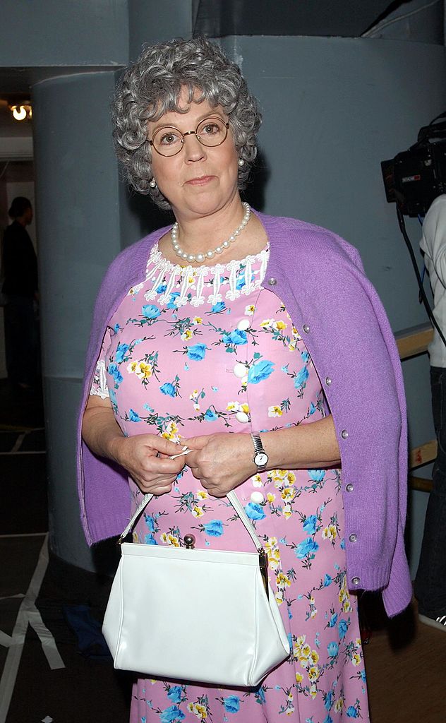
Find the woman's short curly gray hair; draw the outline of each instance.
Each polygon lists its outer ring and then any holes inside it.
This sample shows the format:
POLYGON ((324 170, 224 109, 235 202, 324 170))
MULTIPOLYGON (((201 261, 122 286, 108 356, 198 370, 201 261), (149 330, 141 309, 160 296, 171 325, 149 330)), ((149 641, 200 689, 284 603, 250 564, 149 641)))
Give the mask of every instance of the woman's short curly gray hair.
POLYGON ((179 108, 181 90, 188 90, 188 103, 207 100, 221 106, 229 119, 239 158, 239 189, 243 189, 257 155, 256 136, 262 122, 257 100, 249 93, 239 66, 206 38, 178 38, 144 48, 137 61, 126 68, 112 103, 113 141, 126 178, 142 194, 163 209, 171 205, 149 185, 152 153, 147 139, 147 121, 157 121, 179 108))

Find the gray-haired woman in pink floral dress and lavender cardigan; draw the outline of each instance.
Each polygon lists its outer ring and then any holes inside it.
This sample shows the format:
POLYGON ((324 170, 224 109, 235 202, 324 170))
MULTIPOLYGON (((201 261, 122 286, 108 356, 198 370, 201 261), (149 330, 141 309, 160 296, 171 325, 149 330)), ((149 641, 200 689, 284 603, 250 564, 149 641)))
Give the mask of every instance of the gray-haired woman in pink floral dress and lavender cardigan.
POLYGON ((207 40, 147 48, 115 125, 132 184, 176 223, 122 252, 98 296, 80 418, 87 540, 121 532, 153 492, 138 541, 193 531, 197 547, 251 550, 225 500, 236 489, 293 647, 256 690, 139 680, 131 721, 367 719, 355 592, 382 589, 390 615, 411 599, 385 312, 346 241, 242 205, 260 114, 207 40), (169 459, 179 442, 190 453, 169 459))

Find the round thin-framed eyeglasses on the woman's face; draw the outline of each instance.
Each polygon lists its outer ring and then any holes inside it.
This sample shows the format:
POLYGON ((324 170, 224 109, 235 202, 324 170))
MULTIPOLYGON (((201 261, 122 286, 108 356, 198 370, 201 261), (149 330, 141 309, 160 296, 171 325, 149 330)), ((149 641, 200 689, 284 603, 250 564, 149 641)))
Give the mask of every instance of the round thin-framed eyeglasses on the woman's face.
POLYGON ((194 135, 202 145, 214 147, 221 145, 228 135, 229 124, 218 116, 208 116, 200 121, 194 131, 181 131, 175 126, 158 128, 149 143, 160 155, 176 155, 184 146, 186 135, 194 135))

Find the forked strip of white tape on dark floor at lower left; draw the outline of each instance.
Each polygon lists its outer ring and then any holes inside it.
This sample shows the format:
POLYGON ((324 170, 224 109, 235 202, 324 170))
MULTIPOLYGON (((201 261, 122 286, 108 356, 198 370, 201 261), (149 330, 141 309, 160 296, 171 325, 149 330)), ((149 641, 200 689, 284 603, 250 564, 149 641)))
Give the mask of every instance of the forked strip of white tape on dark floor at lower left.
MULTIPOLYGON (((8 646, 7 660, 4 664, 3 674, 0 680, 0 723, 6 723, 9 705, 14 692, 14 685, 17 680, 17 671, 22 657, 22 650, 25 643, 27 626, 31 625, 38 634, 42 649, 46 655, 46 659, 51 669, 64 668, 64 662, 57 650, 56 641, 51 635, 48 628, 43 625, 42 618, 38 609, 35 607, 35 599, 37 598, 43 577, 48 567, 48 535, 46 535, 38 563, 35 567, 30 586, 20 605, 17 620, 12 631, 12 641, 8 646)), ((4 633, 5 635, 5 633, 4 633)), ((9 637, 9 636, 7 636, 9 637)), ((6 638, 5 638, 6 641, 6 638)))

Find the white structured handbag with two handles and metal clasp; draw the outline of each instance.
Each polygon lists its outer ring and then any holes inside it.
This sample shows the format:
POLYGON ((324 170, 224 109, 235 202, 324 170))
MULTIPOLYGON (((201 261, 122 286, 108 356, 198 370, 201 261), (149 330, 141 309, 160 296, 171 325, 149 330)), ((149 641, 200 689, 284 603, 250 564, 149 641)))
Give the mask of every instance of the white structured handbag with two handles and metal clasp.
POLYGON ((235 492, 228 500, 257 552, 122 542, 103 635, 114 667, 162 680, 251 688, 290 655, 267 581, 267 555, 235 492))

